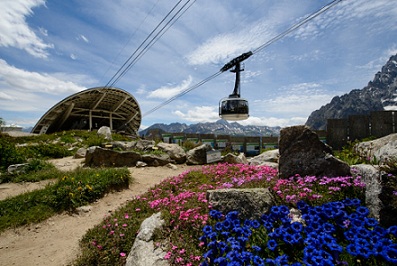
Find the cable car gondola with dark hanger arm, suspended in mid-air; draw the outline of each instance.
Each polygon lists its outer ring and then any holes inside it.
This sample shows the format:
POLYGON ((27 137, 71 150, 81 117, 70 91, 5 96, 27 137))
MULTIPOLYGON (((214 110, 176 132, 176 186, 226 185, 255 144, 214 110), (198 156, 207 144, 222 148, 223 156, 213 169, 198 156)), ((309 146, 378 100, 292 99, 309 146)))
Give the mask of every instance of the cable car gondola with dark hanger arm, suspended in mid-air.
POLYGON ((236 82, 233 93, 228 98, 223 98, 219 102, 219 117, 225 120, 238 121, 245 120, 249 117, 248 101, 240 97, 240 72, 243 71, 240 62, 251 56, 252 53, 246 53, 233 59, 226 64, 221 71, 226 71, 234 66, 230 72, 236 73, 236 82))

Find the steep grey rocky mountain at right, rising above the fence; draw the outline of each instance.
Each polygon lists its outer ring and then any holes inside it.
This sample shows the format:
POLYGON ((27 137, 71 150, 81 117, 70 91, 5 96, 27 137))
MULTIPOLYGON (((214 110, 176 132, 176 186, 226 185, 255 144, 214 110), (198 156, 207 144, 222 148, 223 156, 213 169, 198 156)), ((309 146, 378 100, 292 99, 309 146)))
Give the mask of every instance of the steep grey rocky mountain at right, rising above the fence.
POLYGON ((335 96, 330 103, 312 112, 306 125, 314 130, 324 130, 327 119, 368 115, 371 111, 383 110, 397 110, 397 55, 390 57, 363 89, 335 96))

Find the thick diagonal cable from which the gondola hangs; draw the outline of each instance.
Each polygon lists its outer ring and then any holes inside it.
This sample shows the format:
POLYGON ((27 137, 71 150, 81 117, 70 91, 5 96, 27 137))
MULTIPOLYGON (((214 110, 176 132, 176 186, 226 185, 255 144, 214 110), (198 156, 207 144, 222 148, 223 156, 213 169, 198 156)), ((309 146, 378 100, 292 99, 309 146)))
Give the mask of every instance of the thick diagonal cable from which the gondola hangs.
POLYGON ((166 100, 165 102, 159 104, 158 106, 154 107, 153 109, 147 111, 146 113, 144 113, 142 115, 142 117, 147 116, 151 113, 153 113, 154 111, 164 107, 165 105, 169 104, 170 102, 174 101, 175 99, 187 94, 188 92, 200 87, 201 85, 203 85, 204 83, 214 79, 215 77, 219 76, 220 74, 222 74, 223 72, 231 69, 232 67, 234 67, 237 63, 241 63, 242 61, 246 60, 247 58, 249 58, 251 55, 259 52, 260 50, 263 50, 264 48, 268 47, 269 45, 273 44, 274 42, 280 40, 281 38, 285 37, 286 35, 288 35, 289 33, 291 33, 292 31, 300 28, 301 26, 303 26, 304 24, 306 24, 307 22, 311 21, 312 19, 316 18, 317 16, 321 15, 322 13, 328 11, 331 7, 335 6, 336 4, 342 2, 343 0, 334 0, 328 4, 326 4, 325 6, 323 6, 322 8, 318 9, 317 11, 311 13, 309 16, 307 16, 306 18, 304 18, 303 20, 301 20, 300 22, 292 25, 291 27, 289 27, 287 30, 283 31, 282 33, 280 33, 279 35, 277 35, 276 37, 270 39, 269 41, 265 42, 264 44, 262 44, 261 46, 259 46, 258 48, 254 49, 253 51, 249 51, 246 53, 241 54, 240 56, 232 59, 231 61, 229 61, 227 64, 225 64, 217 73, 207 77, 206 79, 200 81, 199 83, 187 88, 186 90, 183 90, 182 92, 180 92, 179 94, 169 98, 168 100, 166 100))

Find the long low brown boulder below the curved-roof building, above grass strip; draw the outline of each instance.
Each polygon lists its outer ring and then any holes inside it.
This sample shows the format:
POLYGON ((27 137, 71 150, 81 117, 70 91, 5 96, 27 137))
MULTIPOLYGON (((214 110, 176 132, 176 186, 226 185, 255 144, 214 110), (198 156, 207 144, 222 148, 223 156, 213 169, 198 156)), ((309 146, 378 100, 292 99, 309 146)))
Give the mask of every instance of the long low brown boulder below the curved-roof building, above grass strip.
POLYGON ((90 167, 133 167, 138 161, 142 161, 142 156, 137 152, 120 152, 98 146, 89 147, 85 156, 85 165, 90 167))

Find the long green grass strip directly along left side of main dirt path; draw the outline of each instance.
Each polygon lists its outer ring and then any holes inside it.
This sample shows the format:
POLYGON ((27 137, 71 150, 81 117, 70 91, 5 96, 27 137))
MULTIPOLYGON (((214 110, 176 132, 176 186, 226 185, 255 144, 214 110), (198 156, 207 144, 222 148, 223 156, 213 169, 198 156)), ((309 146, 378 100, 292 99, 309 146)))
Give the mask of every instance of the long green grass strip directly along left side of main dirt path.
POLYGON ((126 168, 79 168, 65 172, 58 176, 55 184, 44 189, 0 201, 0 232, 41 222, 55 213, 73 211, 108 192, 128 188, 130 182, 130 172, 126 168))

